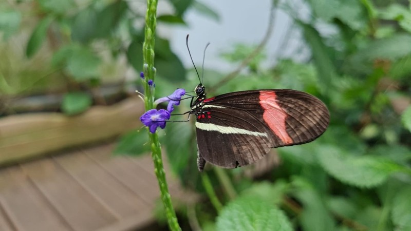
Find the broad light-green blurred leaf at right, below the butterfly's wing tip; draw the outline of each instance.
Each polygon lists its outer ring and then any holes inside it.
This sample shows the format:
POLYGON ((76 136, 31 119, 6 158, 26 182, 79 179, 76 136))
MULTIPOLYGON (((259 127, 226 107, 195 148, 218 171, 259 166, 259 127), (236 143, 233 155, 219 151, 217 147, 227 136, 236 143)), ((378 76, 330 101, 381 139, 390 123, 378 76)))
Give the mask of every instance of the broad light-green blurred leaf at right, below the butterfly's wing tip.
POLYGON ((317 149, 321 166, 332 177, 343 183, 370 188, 382 184, 390 174, 403 167, 384 158, 350 156, 336 146, 321 146, 317 149))

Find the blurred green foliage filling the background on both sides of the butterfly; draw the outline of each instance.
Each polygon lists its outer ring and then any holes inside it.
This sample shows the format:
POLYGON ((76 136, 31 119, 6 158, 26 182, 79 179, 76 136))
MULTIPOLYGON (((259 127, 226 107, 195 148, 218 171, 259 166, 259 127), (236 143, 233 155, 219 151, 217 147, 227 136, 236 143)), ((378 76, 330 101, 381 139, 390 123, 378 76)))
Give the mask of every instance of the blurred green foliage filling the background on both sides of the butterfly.
MULTIPOLYGON (((158 15, 159 23, 186 25, 183 15, 191 7, 219 20, 213 10, 193 0, 170 4, 174 13, 158 15)), ((39 59, 47 44, 51 50, 46 59, 49 68, 43 69, 63 76, 60 80, 69 89, 64 110, 69 114, 90 105, 90 95, 77 91, 79 86, 91 88, 101 83, 102 66, 107 61, 123 56, 127 65, 137 73, 141 71, 143 28, 136 25, 144 20, 143 5, 126 1, 78 5, 52 0, 0 5, 4 41, 15 36, 23 21, 36 22, 24 54, 30 60, 39 59), (20 4, 31 4, 35 10, 22 13, 20 4)), ((231 186, 222 183, 213 170, 216 167, 208 166, 202 174, 209 175, 225 206, 217 213, 211 203, 196 205, 199 224, 204 230, 411 230, 410 2, 282 1, 279 9, 293 18, 294 26, 289 30, 301 34, 305 50, 310 51, 307 59, 296 61, 304 51, 301 49, 291 56, 277 57, 267 67, 263 63, 272 54, 263 52, 235 79, 222 85, 218 83, 226 73, 204 70, 204 84, 215 86, 208 90, 216 94, 261 88, 306 91, 328 106, 329 128, 314 142, 276 149, 281 163, 267 172, 263 181, 247 177, 247 168, 223 170, 238 194, 234 199, 226 190, 231 186), (309 9, 308 14, 300 12, 302 5, 309 9)), ((287 34, 284 40, 295 33, 287 34)), ((222 57, 234 66, 254 47, 236 44, 222 57)), ((19 74, 46 75, 44 70, 35 69, 38 65, 17 68, 15 60, 8 56, 0 62, 2 92, 24 92, 13 82, 19 74)), ((156 38, 156 68, 158 97, 177 87, 191 90, 198 84, 194 70, 185 75, 166 38, 156 38)), ((28 82, 25 86, 32 85, 28 82)), ((189 111, 189 103, 183 101, 176 113, 178 110, 189 111)), ((196 166, 194 126, 169 123, 160 134, 174 174, 186 187, 206 195, 196 166)), ((120 140, 116 152, 142 155, 147 146, 145 133, 133 131, 120 140)))

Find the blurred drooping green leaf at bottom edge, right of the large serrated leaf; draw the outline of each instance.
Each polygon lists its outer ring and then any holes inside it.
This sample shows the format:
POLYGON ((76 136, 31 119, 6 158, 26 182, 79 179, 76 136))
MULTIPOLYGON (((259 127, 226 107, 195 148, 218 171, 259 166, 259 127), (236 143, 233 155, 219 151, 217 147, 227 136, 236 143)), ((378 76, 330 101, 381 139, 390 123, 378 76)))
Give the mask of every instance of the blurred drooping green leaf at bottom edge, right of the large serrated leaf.
POLYGON ((299 215, 303 230, 334 230, 335 224, 325 206, 325 198, 315 190, 314 186, 301 177, 293 177, 291 184, 295 187, 292 194, 303 204, 304 209, 299 215))

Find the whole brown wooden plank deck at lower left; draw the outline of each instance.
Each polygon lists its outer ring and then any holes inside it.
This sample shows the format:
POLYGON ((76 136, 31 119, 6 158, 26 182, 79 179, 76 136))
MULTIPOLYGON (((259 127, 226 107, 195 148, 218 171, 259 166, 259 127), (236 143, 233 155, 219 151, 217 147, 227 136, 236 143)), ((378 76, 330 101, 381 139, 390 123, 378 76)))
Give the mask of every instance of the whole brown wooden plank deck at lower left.
MULTIPOLYGON (((149 155, 113 157, 113 145, 0 170, 0 230, 136 230, 159 197, 149 155)), ((170 173, 170 171, 166 171, 170 173)), ((186 198, 167 175, 173 198, 186 198)))

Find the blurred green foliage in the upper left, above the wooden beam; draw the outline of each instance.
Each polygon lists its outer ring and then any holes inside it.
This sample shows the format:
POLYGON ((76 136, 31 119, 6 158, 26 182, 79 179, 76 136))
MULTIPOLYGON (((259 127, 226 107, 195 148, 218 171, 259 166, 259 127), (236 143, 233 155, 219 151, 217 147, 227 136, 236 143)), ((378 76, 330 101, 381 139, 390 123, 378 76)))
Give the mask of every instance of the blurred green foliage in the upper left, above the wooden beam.
MULTIPOLYGON (((159 24, 186 25, 183 15, 190 7, 218 21, 213 10, 196 1, 170 0, 169 4, 172 9, 158 15, 159 24)), ((130 81, 125 76, 127 69, 132 67, 135 73, 142 70, 144 18, 144 2, 0 2, 0 93, 16 97, 87 91, 91 92, 88 101, 92 101, 101 98, 93 88, 103 82, 124 82, 126 86, 130 81)), ((169 41, 157 36, 156 45, 158 76, 184 81, 185 69, 169 41)), ((133 84, 141 84, 138 74, 134 76, 133 84)), ((63 112, 88 108, 68 105, 71 102, 63 102, 63 112)))

